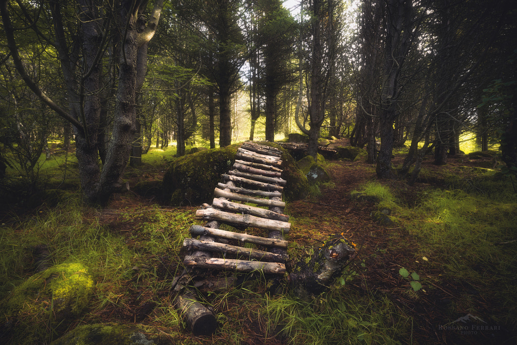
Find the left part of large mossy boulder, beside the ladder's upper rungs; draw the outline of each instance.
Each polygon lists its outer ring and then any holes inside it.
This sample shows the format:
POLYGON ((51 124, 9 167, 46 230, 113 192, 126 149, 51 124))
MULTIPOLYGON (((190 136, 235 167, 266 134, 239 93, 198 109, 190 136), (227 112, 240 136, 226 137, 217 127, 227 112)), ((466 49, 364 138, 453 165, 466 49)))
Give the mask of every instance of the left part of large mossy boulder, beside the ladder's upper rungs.
POLYGON ((171 205, 210 202, 221 174, 232 168, 239 145, 212 148, 176 159, 163 176, 163 201, 171 205))

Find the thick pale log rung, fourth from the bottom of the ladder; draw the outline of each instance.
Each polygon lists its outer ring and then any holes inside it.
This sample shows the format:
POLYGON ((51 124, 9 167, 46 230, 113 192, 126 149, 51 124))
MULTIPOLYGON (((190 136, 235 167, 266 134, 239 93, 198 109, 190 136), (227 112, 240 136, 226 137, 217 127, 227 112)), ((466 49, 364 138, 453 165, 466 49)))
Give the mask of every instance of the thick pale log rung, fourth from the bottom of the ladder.
POLYGON ((244 226, 265 230, 276 230, 283 233, 288 233, 291 228, 291 223, 285 221, 223 212, 216 208, 198 209, 195 213, 195 218, 204 220, 216 220, 229 225, 240 227, 244 226))

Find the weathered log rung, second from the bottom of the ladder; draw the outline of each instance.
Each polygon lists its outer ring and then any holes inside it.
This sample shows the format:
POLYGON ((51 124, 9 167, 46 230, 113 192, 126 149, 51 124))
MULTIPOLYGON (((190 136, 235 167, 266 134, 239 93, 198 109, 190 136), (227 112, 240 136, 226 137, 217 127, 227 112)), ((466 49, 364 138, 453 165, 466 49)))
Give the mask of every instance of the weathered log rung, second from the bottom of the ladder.
POLYGON ((269 262, 284 262, 286 259, 286 256, 270 253, 263 250, 232 246, 229 244, 217 242, 199 241, 199 239, 194 238, 185 238, 183 241, 183 246, 188 248, 189 250, 207 250, 211 252, 219 252, 234 256, 240 256, 249 260, 256 259, 269 262))

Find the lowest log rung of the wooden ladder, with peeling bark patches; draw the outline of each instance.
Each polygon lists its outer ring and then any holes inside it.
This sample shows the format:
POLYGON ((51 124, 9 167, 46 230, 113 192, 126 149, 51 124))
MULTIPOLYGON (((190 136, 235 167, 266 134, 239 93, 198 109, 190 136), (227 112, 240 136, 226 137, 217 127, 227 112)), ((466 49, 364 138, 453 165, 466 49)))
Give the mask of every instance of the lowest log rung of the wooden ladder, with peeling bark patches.
POLYGON ((278 262, 248 261, 238 259, 217 259, 186 256, 185 266, 196 266, 211 269, 231 269, 237 272, 262 271, 266 274, 284 274, 285 264, 278 262))

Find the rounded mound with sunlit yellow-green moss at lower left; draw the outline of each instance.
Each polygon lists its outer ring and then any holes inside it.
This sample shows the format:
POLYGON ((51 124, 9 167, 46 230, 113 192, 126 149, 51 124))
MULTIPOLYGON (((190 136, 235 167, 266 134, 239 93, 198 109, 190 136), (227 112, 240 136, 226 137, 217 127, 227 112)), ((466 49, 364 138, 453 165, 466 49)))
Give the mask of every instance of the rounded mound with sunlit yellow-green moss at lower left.
POLYGON ((5 343, 46 342, 80 316, 94 279, 80 263, 52 266, 28 278, 0 304, 5 343))

